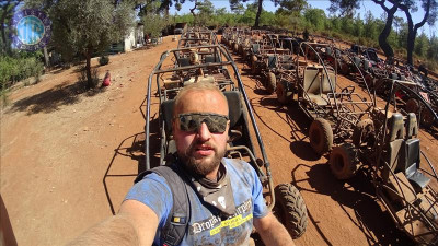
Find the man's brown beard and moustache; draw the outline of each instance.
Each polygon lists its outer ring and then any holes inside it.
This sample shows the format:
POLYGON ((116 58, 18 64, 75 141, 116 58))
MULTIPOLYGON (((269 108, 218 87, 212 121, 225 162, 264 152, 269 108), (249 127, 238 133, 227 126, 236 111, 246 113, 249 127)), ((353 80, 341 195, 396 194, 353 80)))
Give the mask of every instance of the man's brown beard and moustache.
POLYGON ((184 153, 178 152, 178 156, 183 161, 184 167, 189 172, 189 174, 205 177, 220 165, 220 161, 226 153, 224 148, 222 151, 219 151, 217 147, 209 144, 209 147, 214 149, 215 154, 212 156, 205 156, 199 160, 194 155, 198 144, 206 143, 194 142, 184 153))

